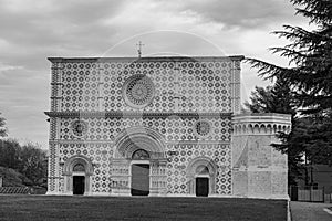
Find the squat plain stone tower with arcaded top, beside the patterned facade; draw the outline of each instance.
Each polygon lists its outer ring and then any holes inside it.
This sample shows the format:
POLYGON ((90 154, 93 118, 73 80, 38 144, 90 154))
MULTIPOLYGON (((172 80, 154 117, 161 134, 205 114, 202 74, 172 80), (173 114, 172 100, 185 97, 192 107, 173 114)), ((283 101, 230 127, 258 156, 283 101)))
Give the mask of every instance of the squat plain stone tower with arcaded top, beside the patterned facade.
POLYGON ((290 131, 290 116, 251 114, 234 117, 234 194, 253 198, 288 198, 287 155, 277 151, 278 131, 290 131))

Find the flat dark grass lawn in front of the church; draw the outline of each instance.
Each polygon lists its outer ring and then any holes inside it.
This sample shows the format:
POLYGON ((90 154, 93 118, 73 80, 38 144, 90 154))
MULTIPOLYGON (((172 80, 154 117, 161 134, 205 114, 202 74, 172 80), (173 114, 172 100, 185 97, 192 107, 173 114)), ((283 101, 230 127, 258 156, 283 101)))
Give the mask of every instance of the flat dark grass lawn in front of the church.
POLYGON ((284 200, 0 196, 0 220, 286 221, 284 200))

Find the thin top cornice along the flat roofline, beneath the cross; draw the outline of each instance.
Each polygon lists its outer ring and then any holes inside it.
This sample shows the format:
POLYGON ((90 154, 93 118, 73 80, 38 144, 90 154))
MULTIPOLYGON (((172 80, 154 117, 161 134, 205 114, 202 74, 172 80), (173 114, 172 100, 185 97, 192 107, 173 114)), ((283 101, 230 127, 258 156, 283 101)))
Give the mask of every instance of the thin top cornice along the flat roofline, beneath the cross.
POLYGON ((147 56, 147 57, 48 57, 51 63, 62 63, 62 62, 145 62, 145 61, 167 61, 167 62, 178 62, 178 61, 220 61, 220 60, 231 60, 231 61, 242 61, 243 55, 234 56, 147 56))

